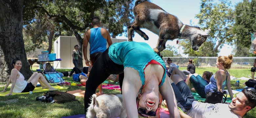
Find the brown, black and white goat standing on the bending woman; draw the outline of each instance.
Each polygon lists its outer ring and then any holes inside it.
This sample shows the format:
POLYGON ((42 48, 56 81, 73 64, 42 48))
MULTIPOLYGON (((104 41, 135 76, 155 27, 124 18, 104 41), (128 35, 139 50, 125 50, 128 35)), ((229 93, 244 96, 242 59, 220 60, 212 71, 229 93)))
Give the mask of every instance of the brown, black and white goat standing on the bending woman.
POLYGON ((210 36, 208 30, 203 31, 199 27, 184 25, 176 16, 167 13, 147 0, 137 0, 133 13, 135 16, 134 22, 127 27, 128 41, 133 41, 132 32, 134 30, 144 40, 148 40, 148 36, 140 28, 150 30, 159 35, 157 46, 154 48, 154 51, 159 55, 160 51, 165 49, 167 40, 189 39, 192 49, 198 50, 207 37, 210 36))

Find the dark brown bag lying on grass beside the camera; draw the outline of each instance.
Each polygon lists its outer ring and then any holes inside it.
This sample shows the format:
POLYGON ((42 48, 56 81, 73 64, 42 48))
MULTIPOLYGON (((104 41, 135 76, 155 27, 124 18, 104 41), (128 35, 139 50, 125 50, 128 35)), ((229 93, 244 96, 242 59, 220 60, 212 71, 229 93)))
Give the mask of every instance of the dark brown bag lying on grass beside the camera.
POLYGON ((70 101, 78 101, 75 99, 75 95, 63 92, 63 91, 47 91, 45 94, 50 94, 53 97, 55 103, 65 103, 70 101))

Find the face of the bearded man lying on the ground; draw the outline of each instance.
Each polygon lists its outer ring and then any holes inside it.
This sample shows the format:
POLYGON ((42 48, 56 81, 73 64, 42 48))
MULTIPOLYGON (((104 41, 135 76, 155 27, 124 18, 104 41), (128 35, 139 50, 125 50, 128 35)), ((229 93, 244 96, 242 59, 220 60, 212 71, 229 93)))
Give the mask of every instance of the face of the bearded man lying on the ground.
POLYGON ((245 97, 245 94, 240 92, 235 98, 232 99, 232 102, 228 105, 228 108, 230 108, 232 111, 242 111, 246 107, 246 100, 247 98, 245 97))

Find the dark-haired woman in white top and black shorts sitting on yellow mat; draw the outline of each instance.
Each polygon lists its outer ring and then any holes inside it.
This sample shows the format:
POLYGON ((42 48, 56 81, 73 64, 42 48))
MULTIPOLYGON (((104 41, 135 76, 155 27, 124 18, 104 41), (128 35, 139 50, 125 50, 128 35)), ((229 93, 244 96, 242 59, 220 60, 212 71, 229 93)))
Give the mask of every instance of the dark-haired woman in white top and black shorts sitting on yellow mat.
POLYGON ((32 76, 29 78, 28 81, 25 81, 24 76, 20 73, 20 69, 22 67, 21 60, 19 58, 15 58, 12 61, 12 66, 14 67, 11 70, 11 76, 4 88, 1 92, 6 92, 7 87, 11 84, 10 93, 6 94, 5 96, 12 95, 12 92, 14 93, 20 93, 20 92, 29 92, 33 91, 34 88, 37 85, 37 82, 39 82, 42 86, 42 88, 49 88, 49 90, 56 90, 55 88, 51 87, 49 83, 46 81, 44 76, 41 73, 34 72, 32 76))

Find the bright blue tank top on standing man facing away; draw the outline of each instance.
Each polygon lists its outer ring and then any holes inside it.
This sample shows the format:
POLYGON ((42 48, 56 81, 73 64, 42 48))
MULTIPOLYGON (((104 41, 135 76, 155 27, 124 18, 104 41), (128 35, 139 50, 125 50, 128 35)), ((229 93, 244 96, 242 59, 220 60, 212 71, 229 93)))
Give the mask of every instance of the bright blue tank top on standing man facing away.
POLYGON ((100 33, 101 28, 92 28, 90 36, 90 54, 95 52, 103 52, 107 49, 107 40, 100 33))

